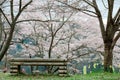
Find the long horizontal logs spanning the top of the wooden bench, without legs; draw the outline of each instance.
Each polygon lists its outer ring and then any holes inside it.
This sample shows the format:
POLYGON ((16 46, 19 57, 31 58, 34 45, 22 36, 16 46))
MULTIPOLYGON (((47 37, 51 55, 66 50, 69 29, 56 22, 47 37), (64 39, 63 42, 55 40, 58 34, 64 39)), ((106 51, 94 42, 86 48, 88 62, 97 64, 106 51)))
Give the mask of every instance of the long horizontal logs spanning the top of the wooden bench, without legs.
POLYGON ((9 60, 11 65, 42 65, 42 66, 66 66, 66 59, 41 59, 41 58, 12 58, 9 60))

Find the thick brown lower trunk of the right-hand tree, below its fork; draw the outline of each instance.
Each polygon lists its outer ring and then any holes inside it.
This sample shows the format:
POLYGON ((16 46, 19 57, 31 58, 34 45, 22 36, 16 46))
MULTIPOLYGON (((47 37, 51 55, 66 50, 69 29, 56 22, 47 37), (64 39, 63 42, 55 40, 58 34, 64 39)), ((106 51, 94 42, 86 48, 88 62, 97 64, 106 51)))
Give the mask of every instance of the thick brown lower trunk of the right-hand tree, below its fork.
POLYGON ((113 49, 111 48, 112 43, 105 43, 105 55, 104 55, 104 71, 105 72, 113 72, 112 69, 112 60, 113 60, 113 49))

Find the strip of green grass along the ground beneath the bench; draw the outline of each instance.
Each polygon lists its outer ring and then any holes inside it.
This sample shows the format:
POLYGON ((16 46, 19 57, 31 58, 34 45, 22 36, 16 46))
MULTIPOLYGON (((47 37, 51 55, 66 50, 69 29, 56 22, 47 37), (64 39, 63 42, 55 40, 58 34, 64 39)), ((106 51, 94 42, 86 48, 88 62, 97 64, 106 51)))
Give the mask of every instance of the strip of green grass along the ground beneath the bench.
POLYGON ((0 73, 0 80, 120 80, 120 73, 91 73, 87 75, 79 74, 70 77, 59 77, 50 75, 10 76, 9 73, 0 73))

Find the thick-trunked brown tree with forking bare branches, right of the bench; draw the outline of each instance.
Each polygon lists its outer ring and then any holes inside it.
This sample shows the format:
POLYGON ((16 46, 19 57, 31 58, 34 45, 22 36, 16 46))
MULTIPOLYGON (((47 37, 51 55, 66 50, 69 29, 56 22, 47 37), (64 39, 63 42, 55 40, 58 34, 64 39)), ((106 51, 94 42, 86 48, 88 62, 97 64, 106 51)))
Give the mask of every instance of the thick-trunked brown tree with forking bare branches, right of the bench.
MULTIPOLYGON (((69 4, 69 7, 81 11, 87 15, 94 16, 98 18, 101 35, 104 43, 104 71, 113 72, 112 70, 112 60, 113 60, 113 49, 115 47, 116 42, 120 38, 120 6, 118 6, 118 10, 116 14, 114 13, 114 2, 117 0, 101 0, 101 3, 105 8, 107 8, 107 23, 104 24, 102 11, 98 4, 97 0, 81 0, 86 3, 86 5, 90 6, 90 9, 78 8, 69 4), (91 9, 93 8, 93 9, 91 9), (115 15, 114 15, 115 14, 115 15)), ((62 2, 63 3, 63 2, 62 2)), ((65 3, 64 3, 65 4, 65 3)))

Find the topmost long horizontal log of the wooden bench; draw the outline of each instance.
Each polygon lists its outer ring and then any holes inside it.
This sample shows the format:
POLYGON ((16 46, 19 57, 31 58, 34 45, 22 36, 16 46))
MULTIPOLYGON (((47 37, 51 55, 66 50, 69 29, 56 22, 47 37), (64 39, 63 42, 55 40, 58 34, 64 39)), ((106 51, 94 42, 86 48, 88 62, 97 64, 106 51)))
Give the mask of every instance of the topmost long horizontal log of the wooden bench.
POLYGON ((67 62, 66 59, 12 58, 10 62, 67 62))

